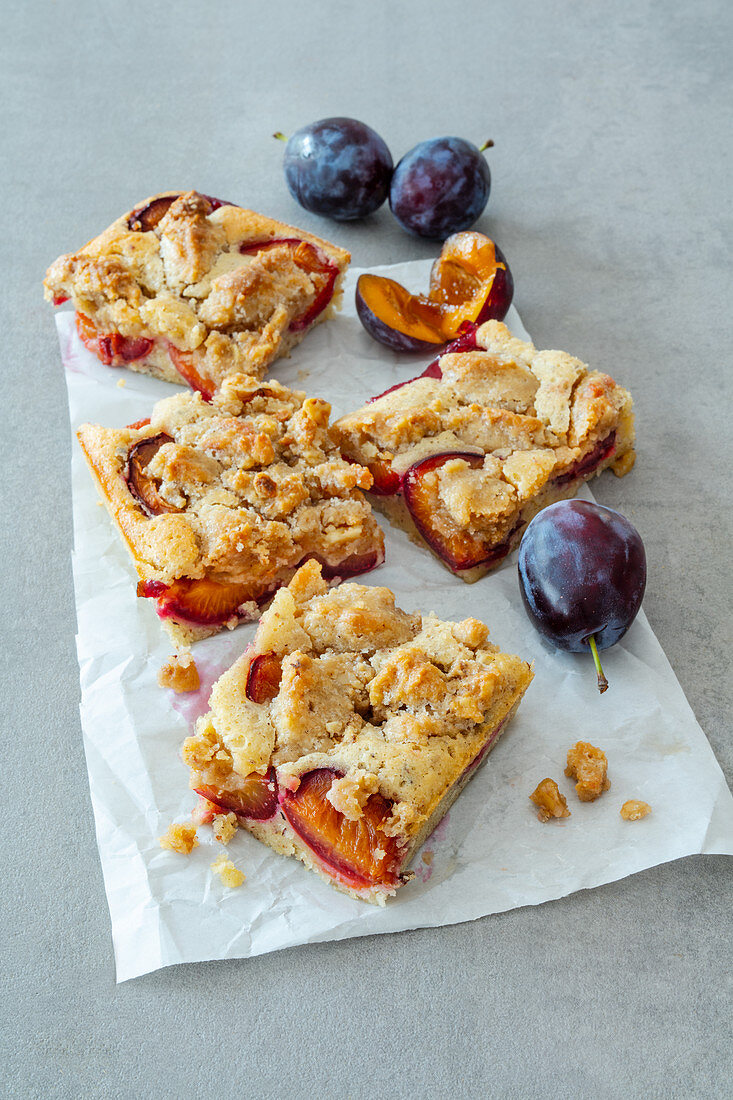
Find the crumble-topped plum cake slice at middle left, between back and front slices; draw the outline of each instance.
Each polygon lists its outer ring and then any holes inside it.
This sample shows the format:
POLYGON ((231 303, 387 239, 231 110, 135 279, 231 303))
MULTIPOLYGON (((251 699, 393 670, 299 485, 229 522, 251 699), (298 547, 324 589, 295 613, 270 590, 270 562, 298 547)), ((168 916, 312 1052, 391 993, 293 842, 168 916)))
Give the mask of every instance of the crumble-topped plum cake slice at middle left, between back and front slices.
POLYGON ((307 558, 331 579, 384 560, 360 492, 371 474, 340 457, 329 413, 278 382, 232 375, 210 402, 179 393, 139 425, 79 429, 138 594, 177 645, 256 617, 307 558))

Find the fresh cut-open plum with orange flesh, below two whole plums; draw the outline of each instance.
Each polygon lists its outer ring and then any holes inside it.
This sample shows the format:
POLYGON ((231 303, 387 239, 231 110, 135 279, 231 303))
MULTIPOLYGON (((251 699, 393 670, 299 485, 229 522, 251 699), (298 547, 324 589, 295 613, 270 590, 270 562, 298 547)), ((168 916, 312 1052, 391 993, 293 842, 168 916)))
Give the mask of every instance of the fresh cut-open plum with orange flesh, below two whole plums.
POLYGON ((506 257, 475 231, 455 233, 430 272, 427 295, 411 294, 382 275, 361 275, 357 312, 374 340, 393 351, 442 346, 471 326, 502 320, 512 304, 514 280, 506 257))

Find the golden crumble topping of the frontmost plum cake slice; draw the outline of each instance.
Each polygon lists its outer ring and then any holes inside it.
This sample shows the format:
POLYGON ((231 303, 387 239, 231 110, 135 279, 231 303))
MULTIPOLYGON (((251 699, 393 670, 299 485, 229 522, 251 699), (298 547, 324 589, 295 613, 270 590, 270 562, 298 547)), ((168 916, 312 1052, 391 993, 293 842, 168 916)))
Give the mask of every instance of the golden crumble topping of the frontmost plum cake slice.
POLYGON ((214 685, 211 713, 184 745, 193 785, 234 791, 274 765, 280 784, 331 767, 329 800, 347 818, 379 791, 385 835, 414 832, 532 679, 475 619, 445 623, 395 607, 378 585, 329 588, 307 562, 262 616, 252 647, 214 685), (273 698, 252 702, 249 670, 275 654, 273 698))

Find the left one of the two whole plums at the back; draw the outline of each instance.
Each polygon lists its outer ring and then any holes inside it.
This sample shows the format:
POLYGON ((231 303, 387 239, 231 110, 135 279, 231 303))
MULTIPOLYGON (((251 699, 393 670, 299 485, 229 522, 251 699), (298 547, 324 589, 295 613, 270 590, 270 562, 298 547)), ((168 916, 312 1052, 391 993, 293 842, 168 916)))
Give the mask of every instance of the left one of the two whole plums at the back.
POLYGON ((303 127, 285 148, 285 180, 313 213, 352 221, 384 202, 392 154, 380 135, 355 119, 321 119, 303 127))

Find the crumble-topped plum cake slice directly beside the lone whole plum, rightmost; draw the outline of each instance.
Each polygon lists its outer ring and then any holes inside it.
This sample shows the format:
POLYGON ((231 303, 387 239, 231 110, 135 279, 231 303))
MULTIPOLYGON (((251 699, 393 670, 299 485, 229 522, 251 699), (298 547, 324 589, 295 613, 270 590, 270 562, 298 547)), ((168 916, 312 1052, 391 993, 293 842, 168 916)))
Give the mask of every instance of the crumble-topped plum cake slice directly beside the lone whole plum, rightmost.
POLYGON ((457 576, 477 581, 541 508, 634 464, 631 395, 500 321, 449 345, 418 378, 341 417, 344 458, 370 469, 372 501, 457 576))

